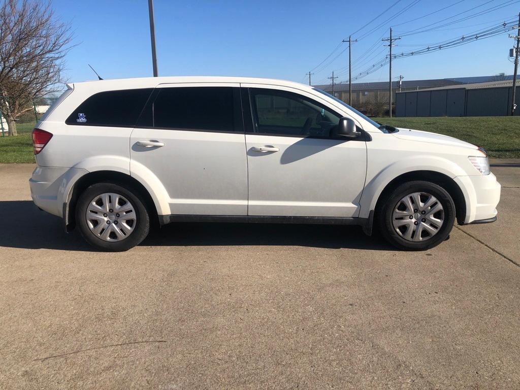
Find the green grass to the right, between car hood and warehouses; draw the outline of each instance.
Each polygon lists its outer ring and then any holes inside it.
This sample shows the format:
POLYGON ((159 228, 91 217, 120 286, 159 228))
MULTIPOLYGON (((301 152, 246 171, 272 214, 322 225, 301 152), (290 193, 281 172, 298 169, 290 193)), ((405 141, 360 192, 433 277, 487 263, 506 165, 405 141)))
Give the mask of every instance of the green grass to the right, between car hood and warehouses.
POLYGON ((486 149, 489 157, 520 158, 520 116, 376 118, 395 127, 449 135, 486 149))

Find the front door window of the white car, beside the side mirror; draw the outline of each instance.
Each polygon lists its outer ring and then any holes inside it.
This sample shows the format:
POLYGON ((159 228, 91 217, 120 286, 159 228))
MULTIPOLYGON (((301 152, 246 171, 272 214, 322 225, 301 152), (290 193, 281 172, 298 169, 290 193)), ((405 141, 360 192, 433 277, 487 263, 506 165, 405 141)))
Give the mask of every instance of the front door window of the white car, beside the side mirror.
POLYGON ((275 89, 250 91, 257 133, 329 137, 341 118, 302 95, 275 89))

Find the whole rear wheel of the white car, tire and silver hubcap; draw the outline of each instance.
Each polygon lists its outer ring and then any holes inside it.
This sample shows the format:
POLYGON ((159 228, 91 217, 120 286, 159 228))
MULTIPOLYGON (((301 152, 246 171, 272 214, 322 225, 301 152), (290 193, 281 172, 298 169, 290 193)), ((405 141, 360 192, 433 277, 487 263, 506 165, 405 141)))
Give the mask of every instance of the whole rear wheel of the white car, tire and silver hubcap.
POLYGON ((135 189, 97 183, 77 200, 76 224, 90 245, 101 251, 122 252, 146 238, 150 217, 135 189))

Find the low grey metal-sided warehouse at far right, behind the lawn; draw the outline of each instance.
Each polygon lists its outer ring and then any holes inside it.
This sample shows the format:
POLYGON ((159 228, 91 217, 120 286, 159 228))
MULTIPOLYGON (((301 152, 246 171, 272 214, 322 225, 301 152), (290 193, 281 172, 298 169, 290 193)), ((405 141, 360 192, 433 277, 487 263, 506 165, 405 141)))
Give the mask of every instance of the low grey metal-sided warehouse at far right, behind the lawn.
MULTIPOLYGON (((520 81, 515 115, 520 115, 520 81)), ((396 94, 396 116, 506 116, 513 97, 511 81, 451 85, 396 94)))

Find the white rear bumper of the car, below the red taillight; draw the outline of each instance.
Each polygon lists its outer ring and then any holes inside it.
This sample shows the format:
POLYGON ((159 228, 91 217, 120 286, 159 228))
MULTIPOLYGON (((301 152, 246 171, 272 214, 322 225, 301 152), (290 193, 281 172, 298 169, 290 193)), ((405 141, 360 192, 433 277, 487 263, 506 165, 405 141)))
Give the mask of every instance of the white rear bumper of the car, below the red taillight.
POLYGON ((29 179, 34 204, 50 214, 63 217, 63 203, 68 201, 76 180, 86 173, 80 168, 36 166, 29 179))

